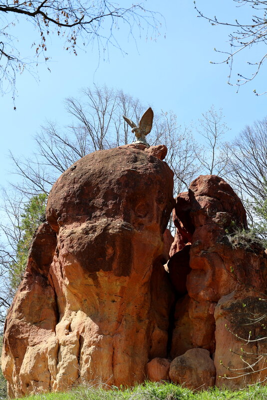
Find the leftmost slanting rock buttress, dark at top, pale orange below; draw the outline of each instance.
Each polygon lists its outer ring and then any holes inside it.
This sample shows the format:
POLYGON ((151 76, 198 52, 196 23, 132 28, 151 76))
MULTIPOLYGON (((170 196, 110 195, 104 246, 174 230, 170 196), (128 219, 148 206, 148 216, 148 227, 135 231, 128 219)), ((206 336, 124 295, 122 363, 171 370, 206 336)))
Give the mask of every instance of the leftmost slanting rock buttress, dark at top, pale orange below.
POLYGON ((29 250, 24 279, 5 321, 2 370, 10 397, 47 391, 56 369, 58 312, 49 275, 55 247, 56 235, 50 225, 40 225, 29 250))

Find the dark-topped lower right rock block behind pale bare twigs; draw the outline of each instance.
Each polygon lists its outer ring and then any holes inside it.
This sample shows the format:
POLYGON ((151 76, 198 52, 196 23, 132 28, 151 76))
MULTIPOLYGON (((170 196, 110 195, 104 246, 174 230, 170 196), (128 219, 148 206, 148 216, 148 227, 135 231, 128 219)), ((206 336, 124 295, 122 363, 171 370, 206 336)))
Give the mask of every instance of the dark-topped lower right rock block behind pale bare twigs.
MULTIPOLYGON (((237 270, 246 265, 242 258, 237 258, 242 261, 241 265, 235 265, 237 270)), ((236 289, 223 296, 215 308, 214 363, 219 387, 226 385, 239 389, 267 379, 267 306, 266 297, 263 298, 266 293, 266 278, 263 276, 266 263, 253 253, 247 253, 246 261, 247 270, 242 268, 242 275, 244 272, 246 275, 239 276, 236 289)))

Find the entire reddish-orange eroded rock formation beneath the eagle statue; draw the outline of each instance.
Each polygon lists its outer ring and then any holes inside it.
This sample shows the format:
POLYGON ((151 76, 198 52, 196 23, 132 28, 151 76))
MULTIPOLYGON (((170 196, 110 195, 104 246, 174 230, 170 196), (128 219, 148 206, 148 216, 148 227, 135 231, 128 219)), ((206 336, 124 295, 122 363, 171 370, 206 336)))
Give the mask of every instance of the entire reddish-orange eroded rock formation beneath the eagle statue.
POLYGON ((267 256, 229 242, 226 231, 247 221, 223 179, 200 176, 174 201, 166 150, 97 151, 54 184, 6 319, 2 369, 10 397, 83 381, 133 385, 148 376, 193 389, 240 388, 267 376, 247 375, 238 355, 243 347, 252 363, 267 353, 262 324, 247 325, 267 313, 259 300, 267 256), (242 346, 250 331, 253 342, 242 346))

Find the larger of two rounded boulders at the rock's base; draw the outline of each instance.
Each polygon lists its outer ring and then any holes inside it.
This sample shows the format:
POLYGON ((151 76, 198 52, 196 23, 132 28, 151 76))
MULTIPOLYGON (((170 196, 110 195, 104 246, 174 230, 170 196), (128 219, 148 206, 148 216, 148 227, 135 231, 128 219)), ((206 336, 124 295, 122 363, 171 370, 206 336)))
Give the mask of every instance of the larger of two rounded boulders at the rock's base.
POLYGON ((186 388, 206 390, 215 384, 216 369, 208 350, 191 349, 172 361, 169 376, 186 388))

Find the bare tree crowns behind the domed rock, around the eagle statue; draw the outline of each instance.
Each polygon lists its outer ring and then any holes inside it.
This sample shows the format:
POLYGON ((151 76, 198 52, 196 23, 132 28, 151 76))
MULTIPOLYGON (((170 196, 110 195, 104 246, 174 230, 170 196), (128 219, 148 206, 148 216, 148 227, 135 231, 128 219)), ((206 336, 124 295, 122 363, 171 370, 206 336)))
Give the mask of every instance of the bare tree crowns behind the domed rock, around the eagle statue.
MULTIPOLYGON (((80 99, 66 100, 72 123, 59 129, 47 122, 35 136, 36 153, 28 159, 13 154, 15 172, 20 177, 15 188, 25 196, 48 193, 57 177, 76 160, 95 150, 108 149, 134 141, 122 115, 139 121, 146 107, 121 90, 106 87, 84 89, 80 99)), ((178 125, 172 112, 155 115, 150 145, 166 144, 167 162, 175 172, 175 193, 186 189, 199 169, 197 144, 191 132, 178 125)))

